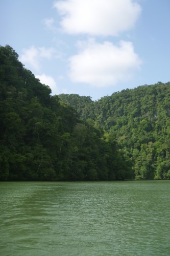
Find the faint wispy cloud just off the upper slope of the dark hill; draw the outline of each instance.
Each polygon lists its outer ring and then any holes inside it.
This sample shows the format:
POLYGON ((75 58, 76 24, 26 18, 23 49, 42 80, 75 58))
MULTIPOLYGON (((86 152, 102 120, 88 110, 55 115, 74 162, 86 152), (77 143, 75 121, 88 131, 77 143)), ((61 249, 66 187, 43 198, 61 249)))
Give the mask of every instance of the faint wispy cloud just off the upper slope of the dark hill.
POLYGON ((19 60, 24 65, 29 65, 34 70, 40 71, 42 58, 52 59, 54 57, 59 57, 59 53, 54 48, 36 48, 35 46, 31 46, 29 49, 23 49, 23 54, 19 60))

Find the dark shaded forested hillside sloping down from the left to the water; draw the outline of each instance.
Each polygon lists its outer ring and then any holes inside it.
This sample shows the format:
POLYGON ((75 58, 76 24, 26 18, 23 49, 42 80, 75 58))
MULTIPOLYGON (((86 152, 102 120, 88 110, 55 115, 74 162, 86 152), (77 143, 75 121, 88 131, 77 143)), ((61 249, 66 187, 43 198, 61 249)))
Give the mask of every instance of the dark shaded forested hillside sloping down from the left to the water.
MULTIPOLYGON (((85 101, 91 103, 90 98, 85 101)), ((10 46, 0 47, 1 180, 133 177, 131 161, 118 150, 114 134, 101 129, 106 120, 100 127, 89 117, 81 120, 74 108, 51 96, 51 89, 23 67, 10 46)))

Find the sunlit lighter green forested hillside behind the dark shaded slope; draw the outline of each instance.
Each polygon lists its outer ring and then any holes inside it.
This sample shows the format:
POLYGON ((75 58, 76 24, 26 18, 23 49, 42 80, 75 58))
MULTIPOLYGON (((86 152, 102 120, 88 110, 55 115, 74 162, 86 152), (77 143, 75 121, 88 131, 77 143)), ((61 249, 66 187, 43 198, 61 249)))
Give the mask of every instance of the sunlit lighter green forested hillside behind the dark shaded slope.
POLYGON ((123 90, 95 102, 76 94, 59 98, 117 141, 133 163, 134 178, 170 179, 170 82, 123 90))

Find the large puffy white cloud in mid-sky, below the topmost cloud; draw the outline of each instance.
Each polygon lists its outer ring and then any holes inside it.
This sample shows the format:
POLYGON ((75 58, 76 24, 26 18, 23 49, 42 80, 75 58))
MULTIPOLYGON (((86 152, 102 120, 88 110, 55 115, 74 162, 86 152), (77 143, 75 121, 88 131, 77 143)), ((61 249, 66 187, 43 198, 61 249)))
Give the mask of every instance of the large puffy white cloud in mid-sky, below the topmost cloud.
POLYGON ((141 60, 134 52, 132 42, 120 41, 119 46, 109 41, 103 44, 93 39, 79 42, 80 52, 69 59, 69 76, 74 82, 89 83, 96 87, 114 86, 127 81, 141 60))

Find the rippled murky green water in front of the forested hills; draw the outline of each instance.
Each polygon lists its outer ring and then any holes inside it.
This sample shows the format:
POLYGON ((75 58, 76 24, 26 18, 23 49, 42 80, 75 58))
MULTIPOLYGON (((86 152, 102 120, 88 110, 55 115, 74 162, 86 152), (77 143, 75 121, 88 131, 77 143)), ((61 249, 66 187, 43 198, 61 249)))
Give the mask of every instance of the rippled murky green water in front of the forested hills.
POLYGON ((0 255, 170 255, 170 181, 1 182, 0 255))

